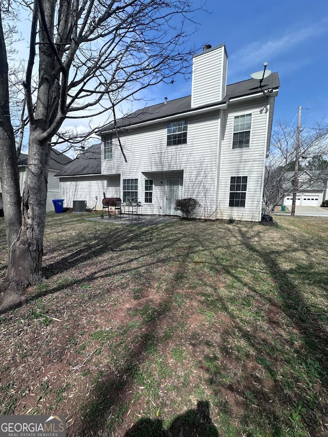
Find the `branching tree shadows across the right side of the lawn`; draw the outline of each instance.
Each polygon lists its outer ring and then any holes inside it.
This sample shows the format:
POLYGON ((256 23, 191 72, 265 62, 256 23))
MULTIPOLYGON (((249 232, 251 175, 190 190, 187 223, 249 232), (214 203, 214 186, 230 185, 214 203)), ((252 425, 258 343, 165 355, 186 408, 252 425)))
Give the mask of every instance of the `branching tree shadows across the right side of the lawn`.
MULTIPOLYGON (((244 247, 254 254, 256 258, 260 258, 263 261, 269 274, 274 279, 278 289, 278 296, 282 301, 281 311, 283 311, 285 316, 291 321, 292 326, 299 332, 299 339, 304 350, 300 349, 301 357, 286 356, 288 357, 287 359, 292 360, 291 362, 280 361, 280 365, 285 365, 286 369, 288 369, 286 370, 286 375, 292 373, 292 376, 290 376, 291 380, 288 380, 287 377, 284 380, 278 378, 275 368, 279 361, 276 362, 275 355, 279 357, 278 360, 281 360, 280 357, 283 357, 283 351, 279 350, 279 347, 288 342, 288 339, 282 338, 282 345, 275 343, 275 330, 279 328, 279 322, 274 319, 274 311, 270 320, 273 336, 272 338, 264 338, 264 336, 261 336, 261 332, 256 329, 252 330, 251 326, 246 328, 236 318, 236 315, 231 313, 224 299, 218 296, 217 300, 220 301, 220 307, 226 314, 231 316, 235 331, 239 332, 242 341, 248 344, 252 352, 255 352, 257 356, 257 363, 252 364, 253 358, 251 357, 251 361, 247 357, 242 360, 242 383, 236 381, 235 383, 226 384, 225 389, 246 400, 244 420, 246 423, 249 423, 247 426, 251 426, 252 429, 254 429, 255 423, 257 423, 257 426, 259 429, 263 429, 263 432, 267 429, 268 432, 273 432, 273 435, 276 437, 284 437, 286 429, 289 427, 292 427, 292 432, 299 432, 297 435, 308 435, 307 432, 312 436, 326 435, 327 430, 323 429, 323 424, 327 422, 328 418, 322 402, 324 402, 324 392, 326 393, 328 388, 327 333, 325 325, 318 317, 319 313, 311 310, 301 289, 292 279, 293 275, 299 278, 300 266, 295 265, 295 267, 289 269, 284 269, 280 266, 277 255, 281 250, 284 257, 288 256, 288 248, 278 249, 278 251, 277 248, 272 246, 261 248, 254 241, 252 232, 245 232, 243 228, 236 228, 236 232, 239 234, 244 247), (264 367, 269 375, 269 382, 271 384, 270 387, 267 387, 269 389, 265 388, 265 382, 256 373, 256 364, 262 368, 264 367), (302 368, 303 373, 298 374, 297 366, 302 368), (306 377, 304 377, 304 374, 306 374, 306 377), (309 377, 308 380, 306 379, 307 377, 309 377), (321 383, 322 389, 320 395, 317 395, 315 385, 312 386, 313 381, 321 383), (303 389, 303 384, 307 383, 309 386, 304 386, 303 389), (322 396, 322 399, 319 396, 322 396), (254 405, 256 409, 254 409, 254 405), (269 426, 271 429, 269 429, 269 426)), ((306 244, 303 243, 299 240, 296 250, 306 252, 306 244)), ((291 249, 291 252, 294 251, 295 249, 291 249)), ((310 253, 308 253, 308 259, 312 259, 310 253)), ((303 278, 326 289, 326 277, 319 276, 311 261, 308 264, 302 263, 301 268, 303 269, 303 278)), ((251 299, 254 299, 254 294, 257 294, 260 300, 267 300, 269 306, 278 308, 277 305, 279 303, 277 301, 269 296, 262 295, 259 289, 250 286, 250 283, 244 281, 239 275, 236 276, 230 267, 224 266, 223 269, 226 274, 231 278, 235 278, 240 285, 249 290, 248 294, 251 299)), ((250 272, 250 274, 252 273, 250 272)), ((228 331, 229 329, 226 330, 226 333, 223 332, 222 334, 223 344, 221 346, 221 353, 222 356, 231 357, 231 351, 226 345, 231 342, 228 331), (227 341, 224 341, 225 338, 227 341)), ((279 336, 280 334, 277 333, 278 339, 279 336)), ((291 347, 296 351, 293 346, 291 347)), ((238 355, 236 355, 235 359, 238 360, 238 355)), ((220 370, 210 371, 209 373, 209 384, 212 385, 213 391, 216 394, 222 394, 222 386, 218 385, 221 384, 220 370)), ((251 433, 250 435, 256 434, 251 433)))

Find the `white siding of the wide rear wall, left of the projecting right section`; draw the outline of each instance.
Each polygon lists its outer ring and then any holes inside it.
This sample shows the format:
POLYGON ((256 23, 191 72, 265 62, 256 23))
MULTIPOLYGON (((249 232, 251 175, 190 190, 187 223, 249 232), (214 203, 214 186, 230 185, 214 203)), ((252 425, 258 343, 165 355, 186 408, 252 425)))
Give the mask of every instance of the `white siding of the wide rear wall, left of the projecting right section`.
MULTIPOLYGON (((121 178, 135 178, 139 173, 138 200, 143 203, 142 214, 165 214, 165 186, 168 177, 179 177, 181 196, 195 197, 211 213, 215 209, 215 178, 217 162, 219 112, 189 117, 188 147, 177 144, 167 147, 167 122, 140 127, 120 135, 127 162, 120 153, 112 161, 102 161, 103 174, 121 173, 121 178), (142 147, 140 146, 142 144, 142 147), (201 157, 201 159, 200 159, 201 157), (142 176, 142 175, 145 175, 142 176), (146 204, 144 178, 154 180, 153 204, 146 204), (162 182, 162 183, 160 183, 162 182), (183 184, 183 185, 182 185, 183 184), (206 201, 203 199, 206 198, 206 201)), ((172 121, 175 121, 174 119, 172 121)), ((113 148, 116 148, 113 139, 113 148)))

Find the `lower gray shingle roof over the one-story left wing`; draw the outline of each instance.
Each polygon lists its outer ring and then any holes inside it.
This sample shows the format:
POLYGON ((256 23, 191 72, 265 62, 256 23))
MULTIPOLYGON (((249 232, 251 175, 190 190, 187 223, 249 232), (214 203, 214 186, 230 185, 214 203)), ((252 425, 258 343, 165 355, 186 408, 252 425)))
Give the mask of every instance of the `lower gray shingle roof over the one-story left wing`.
POLYGON ((94 144, 77 156, 55 176, 99 175, 101 173, 101 144, 94 144))

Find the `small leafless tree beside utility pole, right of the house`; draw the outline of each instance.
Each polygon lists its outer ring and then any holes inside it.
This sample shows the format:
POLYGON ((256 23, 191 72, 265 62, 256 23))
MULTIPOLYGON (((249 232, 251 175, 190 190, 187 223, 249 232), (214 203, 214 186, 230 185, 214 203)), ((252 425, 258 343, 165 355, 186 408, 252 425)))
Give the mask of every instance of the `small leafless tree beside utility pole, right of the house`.
MULTIPOLYGON (((312 166, 310 169, 308 165, 317 156, 328 156, 327 124, 317 123, 313 127, 303 127, 298 153, 296 132, 297 129, 291 127, 291 123, 281 120, 273 129, 270 155, 265 167, 263 190, 263 200, 268 212, 272 212, 285 196, 293 193, 296 161, 300 164, 298 174, 303 170, 311 172, 312 184, 326 180, 328 177, 328 171, 324 166, 318 166, 318 169, 314 169, 312 166)), ((298 192, 307 188, 304 183, 299 183, 298 192)))

